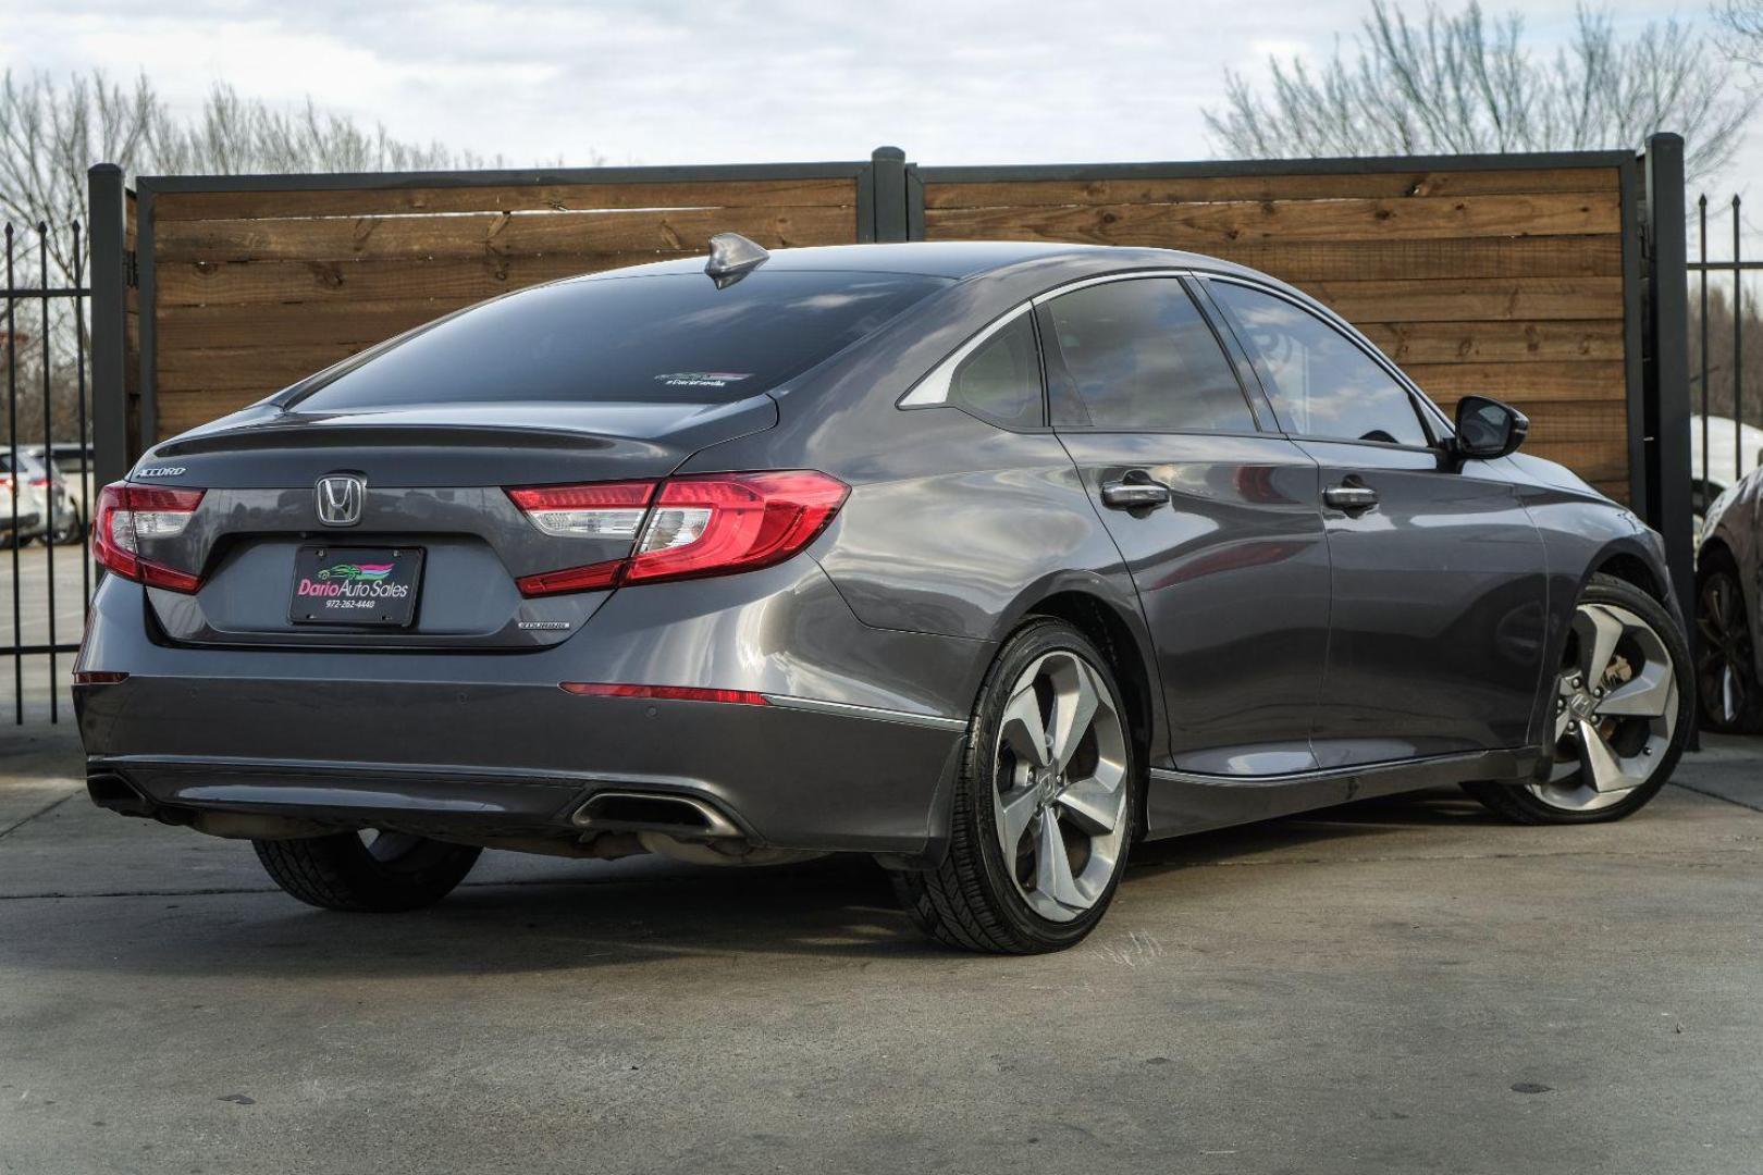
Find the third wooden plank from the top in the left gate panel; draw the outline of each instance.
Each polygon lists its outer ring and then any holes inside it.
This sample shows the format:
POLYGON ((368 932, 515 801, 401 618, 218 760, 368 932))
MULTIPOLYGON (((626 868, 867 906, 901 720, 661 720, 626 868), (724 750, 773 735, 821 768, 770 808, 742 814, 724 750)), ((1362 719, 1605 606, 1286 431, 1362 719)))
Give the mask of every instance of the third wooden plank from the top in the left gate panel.
POLYGON ((478 259, 178 262, 159 268, 159 308, 252 303, 480 301, 513 289, 689 254, 547 254, 478 259))

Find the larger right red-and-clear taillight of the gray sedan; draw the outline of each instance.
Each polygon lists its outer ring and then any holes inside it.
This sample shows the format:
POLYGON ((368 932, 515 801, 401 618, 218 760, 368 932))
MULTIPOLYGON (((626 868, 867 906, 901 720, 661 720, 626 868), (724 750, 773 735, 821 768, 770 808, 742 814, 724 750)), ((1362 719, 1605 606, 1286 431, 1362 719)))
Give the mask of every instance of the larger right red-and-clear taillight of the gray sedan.
POLYGON ((827 528, 850 488, 827 474, 695 474, 652 483, 538 486, 508 497, 547 534, 635 539, 624 558, 518 580, 554 595, 770 567, 827 528))

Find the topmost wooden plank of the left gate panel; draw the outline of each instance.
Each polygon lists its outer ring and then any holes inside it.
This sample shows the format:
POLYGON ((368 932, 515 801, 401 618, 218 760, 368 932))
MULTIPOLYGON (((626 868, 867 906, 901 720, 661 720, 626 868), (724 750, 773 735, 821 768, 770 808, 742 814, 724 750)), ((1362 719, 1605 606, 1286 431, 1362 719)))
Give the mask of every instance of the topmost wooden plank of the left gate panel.
POLYGON ((857 206, 855 180, 677 180, 501 187, 354 187, 338 190, 160 192, 153 220, 372 217, 397 211, 592 208, 857 206))

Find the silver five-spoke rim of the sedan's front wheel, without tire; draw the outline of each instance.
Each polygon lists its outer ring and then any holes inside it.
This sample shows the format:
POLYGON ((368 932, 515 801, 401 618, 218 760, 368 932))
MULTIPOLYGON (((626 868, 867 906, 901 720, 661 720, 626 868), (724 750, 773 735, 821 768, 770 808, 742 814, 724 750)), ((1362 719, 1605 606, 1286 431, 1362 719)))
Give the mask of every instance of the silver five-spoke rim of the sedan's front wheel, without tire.
POLYGON ((1581 602, 1553 699, 1555 765, 1530 794, 1592 812, 1652 779, 1677 731, 1677 668, 1664 639, 1634 611, 1581 602))

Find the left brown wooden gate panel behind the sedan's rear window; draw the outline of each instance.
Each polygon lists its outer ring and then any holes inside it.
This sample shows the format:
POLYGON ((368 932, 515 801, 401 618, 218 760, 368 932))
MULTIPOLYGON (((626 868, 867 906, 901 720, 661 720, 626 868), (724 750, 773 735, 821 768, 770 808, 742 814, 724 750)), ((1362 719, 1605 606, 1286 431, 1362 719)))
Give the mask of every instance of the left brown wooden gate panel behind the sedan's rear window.
POLYGON ((862 169, 395 185, 337 176, 293 190, 143 181, 143 428, 169 437, 450 310, 703 254, 714 233, 769 248, 871 238, 859 229, 862 169))

